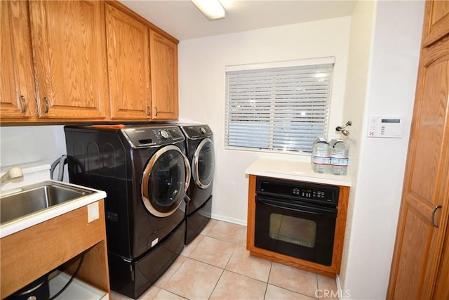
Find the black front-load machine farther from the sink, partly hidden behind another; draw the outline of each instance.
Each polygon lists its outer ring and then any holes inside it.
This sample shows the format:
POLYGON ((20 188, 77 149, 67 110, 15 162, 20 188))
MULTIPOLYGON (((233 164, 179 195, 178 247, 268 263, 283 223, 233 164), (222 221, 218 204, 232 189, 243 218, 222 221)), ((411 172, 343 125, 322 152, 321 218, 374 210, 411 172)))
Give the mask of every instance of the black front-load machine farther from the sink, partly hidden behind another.
POLYGON ((189 244, 210 220, 215 153, 213 132, 208 125, 183 124, 180 129, 185 135, 187 157, 192 169, 187 191, 190 200, 186 204, 185 244, 189 244))

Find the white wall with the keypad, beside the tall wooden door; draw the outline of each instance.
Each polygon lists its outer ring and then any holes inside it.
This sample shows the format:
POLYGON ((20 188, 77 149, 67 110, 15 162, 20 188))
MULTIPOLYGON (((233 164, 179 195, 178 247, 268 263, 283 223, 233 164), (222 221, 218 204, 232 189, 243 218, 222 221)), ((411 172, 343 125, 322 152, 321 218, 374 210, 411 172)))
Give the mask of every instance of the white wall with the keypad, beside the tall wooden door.
POLYGON ((356 121, 351 129, 351 134, 356 133, 355 138, 350 139, 351 151, 360 155, 357 174, 353 174, 356 177, 349 209, 352 214, 347 223, 349 230, 340 275, 342 289, 349 291, 350 299, 384 299, 386 296, 415 98, 423 16, 424 1, 377 1, 375 5, 361 1, 354 11, 344 119, 356 121), (367 21, 373 13, 374 31, 370 34, 367 21), (369 56, 366 39, 372 39, 369 56), (369 65, 366 65, 367 59, 369 65), (366 84, 353 81, 356 77, 360 79, 367 66, 366 84), (363 98, 365 105, 361 105, 363 98), (366 132, 371 115, 402 117, 403 138, 368 138, 366 132))

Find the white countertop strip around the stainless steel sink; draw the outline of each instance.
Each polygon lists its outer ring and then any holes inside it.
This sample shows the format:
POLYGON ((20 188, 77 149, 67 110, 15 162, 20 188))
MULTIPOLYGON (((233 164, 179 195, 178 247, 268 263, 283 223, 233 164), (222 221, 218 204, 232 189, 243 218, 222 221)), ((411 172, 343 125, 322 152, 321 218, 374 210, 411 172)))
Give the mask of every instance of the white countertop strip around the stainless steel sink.
MULTIPOLYGON (((23 218, 15 219, 11 222, 5 223, 0 226, 0 238, 6 237, 7 235, 12 235, 13 233, 17 233, 20 230, 24 230, 36 224, 48 221, 49 219, 53 219, 69 211, 79 209, 79 207, 83 207, 93 202, 97 202, 98 200, 104 199, 106 197, 106 193, 102 190, 95 190, 93 188, 86 188, 81 185, 75 185, 72 183, 65 183, 61 181, 55 181, 55 183, 73 186, 77 188, 83 188, 86 190, 93 190, 95 193, 79 197, 76 200, 63 202, 53 207, 43 209, 42 211, 36 211, 34 214, 29 214, 23 218)), ((8 191, 4 192, 4 194, 7 193, 8 191)))

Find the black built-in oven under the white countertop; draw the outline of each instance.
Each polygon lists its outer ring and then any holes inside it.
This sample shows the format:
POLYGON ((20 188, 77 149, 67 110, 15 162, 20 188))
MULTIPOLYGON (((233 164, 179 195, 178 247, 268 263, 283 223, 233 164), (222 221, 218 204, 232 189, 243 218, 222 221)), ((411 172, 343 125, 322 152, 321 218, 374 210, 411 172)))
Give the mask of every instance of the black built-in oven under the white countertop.
POLYGON ((330 266, 339 190, 258 176, 255 247, 330 266))

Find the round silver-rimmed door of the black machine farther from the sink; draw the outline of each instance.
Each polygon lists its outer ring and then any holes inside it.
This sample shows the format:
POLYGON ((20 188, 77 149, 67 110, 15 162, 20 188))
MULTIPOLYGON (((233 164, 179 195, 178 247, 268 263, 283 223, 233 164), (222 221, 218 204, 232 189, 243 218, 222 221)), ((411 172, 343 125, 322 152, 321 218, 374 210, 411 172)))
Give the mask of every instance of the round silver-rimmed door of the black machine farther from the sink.
POLYGON ((208 188, 212 183, 214 168, 213 142, 210 138, 205 138, 199 143, 192 159, 192 176, 199 188, 208 188))

